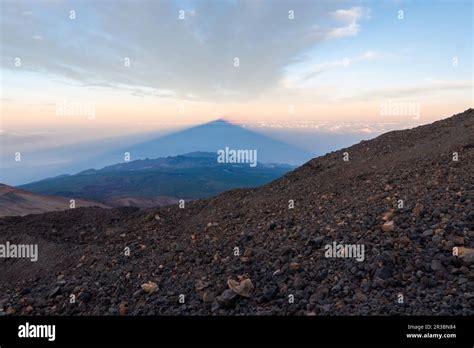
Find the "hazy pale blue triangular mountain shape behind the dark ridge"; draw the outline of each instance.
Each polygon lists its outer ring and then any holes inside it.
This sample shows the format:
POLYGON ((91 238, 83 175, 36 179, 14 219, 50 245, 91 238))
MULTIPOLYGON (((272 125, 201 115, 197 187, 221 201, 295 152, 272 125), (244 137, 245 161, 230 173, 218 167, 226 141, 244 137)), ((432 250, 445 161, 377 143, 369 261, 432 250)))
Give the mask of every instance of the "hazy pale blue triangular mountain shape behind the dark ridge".
POLYGON ((300 165, 314 154, 275 140, 266 135, 217 120, 199 126, 162 135, 163 131, 133 134, 101 141, 55 147, 47 150, 34 149, 21 162, 3 163, 0 167, 2 182, 20 185, 59 174, 73 174, 88 168, 103 168, 124 163, 124 153, 130 153, 130 160, 177 156, 191 152, 216 153, 226 146, 231 149, 257 150, 261 163, 287 163, 300 165))

